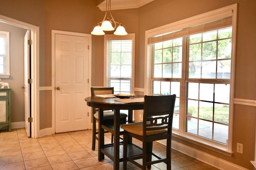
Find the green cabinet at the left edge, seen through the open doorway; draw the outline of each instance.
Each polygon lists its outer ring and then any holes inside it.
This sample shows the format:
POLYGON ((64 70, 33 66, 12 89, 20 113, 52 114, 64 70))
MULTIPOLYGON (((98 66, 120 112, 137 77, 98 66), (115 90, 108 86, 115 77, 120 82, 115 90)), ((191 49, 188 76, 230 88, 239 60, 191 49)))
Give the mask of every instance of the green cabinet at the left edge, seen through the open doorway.
POLYGON ((0 88, 0 130, 11 127, 11 88, 0 88))

